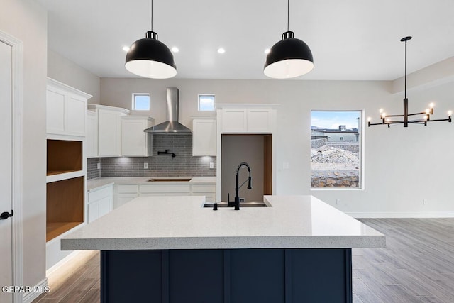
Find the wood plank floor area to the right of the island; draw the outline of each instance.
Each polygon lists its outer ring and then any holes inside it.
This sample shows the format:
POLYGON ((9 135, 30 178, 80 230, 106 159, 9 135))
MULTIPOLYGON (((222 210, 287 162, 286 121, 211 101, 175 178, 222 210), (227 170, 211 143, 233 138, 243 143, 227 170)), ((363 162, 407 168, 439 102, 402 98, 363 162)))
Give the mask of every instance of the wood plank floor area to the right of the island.
POLYGON ((454 219, 362 219, 386 248, 353 249, 354 302, 454 302, 454 219))

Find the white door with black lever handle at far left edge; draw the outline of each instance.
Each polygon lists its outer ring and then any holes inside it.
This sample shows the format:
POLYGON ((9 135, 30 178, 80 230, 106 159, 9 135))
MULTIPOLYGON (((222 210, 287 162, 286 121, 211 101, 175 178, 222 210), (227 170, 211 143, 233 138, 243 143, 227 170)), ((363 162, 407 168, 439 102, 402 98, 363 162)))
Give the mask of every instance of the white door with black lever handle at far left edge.
MULTIPOLYGON (((11 76, 13 48, 0 40, 0 285, 13 285, 11 214, 11 76)), ((0 302, 13 302, 13 295, 0 290, 0 302)))

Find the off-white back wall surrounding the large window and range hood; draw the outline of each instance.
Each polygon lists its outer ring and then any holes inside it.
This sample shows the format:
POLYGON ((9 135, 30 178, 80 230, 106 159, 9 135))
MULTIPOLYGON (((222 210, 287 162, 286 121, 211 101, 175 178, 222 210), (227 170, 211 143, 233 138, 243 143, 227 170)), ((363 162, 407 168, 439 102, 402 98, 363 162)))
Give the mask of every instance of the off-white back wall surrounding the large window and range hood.
MULTIPOLYGON (((165 119, 165 88, 178 87, 180 122, 191 125, 197 94, 214 93, 217 103, 279 103, 277 109, 276 194, 314 194, 358 216, 454 214, 450 170, 454 168, 454 124, 432 123, 409 128, 365 128, 364 190, 310 189, 311 109, 363 109, 375 121, 378 109, 402 114, 402 94, 391 94, 392 82, 299 80, 206 80, 101 78, 101 104, 131 109, 133 92, 150 92, 150 116, 165 119), (284 162, 289 169, 283 169, 284 162), (423 205, 422 199, 428 199, 423 205)), ((454 87, 441 84, 408 92, 410 111, 438 103, 436 116, 448 110, 454 87)), ((454 108, 453 108, 454 109, 454 108)))

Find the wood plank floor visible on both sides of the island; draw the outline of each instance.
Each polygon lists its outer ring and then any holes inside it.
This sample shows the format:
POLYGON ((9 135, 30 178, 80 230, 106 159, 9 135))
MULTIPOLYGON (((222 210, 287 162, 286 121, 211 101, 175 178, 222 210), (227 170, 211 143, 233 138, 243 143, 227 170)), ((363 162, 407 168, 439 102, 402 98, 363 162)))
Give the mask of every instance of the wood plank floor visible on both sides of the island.
MULTIPOLYGON (((387 247, 353 249, 353 302, 454 302, 454 219, 360 221, 384 233, 387 247)), ((67 266, 33 303, 99 302, 99 253, 67 266)))

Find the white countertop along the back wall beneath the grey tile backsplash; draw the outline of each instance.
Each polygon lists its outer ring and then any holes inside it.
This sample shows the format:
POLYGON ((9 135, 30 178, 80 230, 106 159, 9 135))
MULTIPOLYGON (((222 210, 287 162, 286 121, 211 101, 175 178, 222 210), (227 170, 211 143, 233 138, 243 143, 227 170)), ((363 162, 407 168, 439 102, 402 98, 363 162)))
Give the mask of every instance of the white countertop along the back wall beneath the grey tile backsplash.
POLYGON ((216 184, 216 177, 99 177, 87 180, 87 191, 98 189, 109 184, 216 184), (150 179, 191 179, 190 181, 159 181, 150 179))

